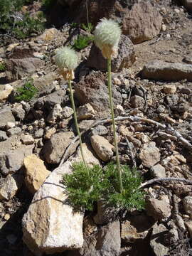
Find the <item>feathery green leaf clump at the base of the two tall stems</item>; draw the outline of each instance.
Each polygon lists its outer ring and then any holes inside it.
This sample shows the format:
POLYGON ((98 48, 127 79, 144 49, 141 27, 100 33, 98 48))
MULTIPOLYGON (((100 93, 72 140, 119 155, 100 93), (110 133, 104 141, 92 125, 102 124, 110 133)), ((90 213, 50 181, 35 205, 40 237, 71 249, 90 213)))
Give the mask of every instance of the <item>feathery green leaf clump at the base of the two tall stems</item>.
POLYGON ((144 193, 139 189, 142 177, 128 166, 122 166, 123 193, 119 192, 119 177, 117 166, 108 164, 105 170, 95 165, 89 169, 89 174, 83 163, 72 166, 73 173, 63 176, 68 199, 75 210, 93 210, 95 203, 101 200, 107 206, 131 210, 144 208, 144 193))

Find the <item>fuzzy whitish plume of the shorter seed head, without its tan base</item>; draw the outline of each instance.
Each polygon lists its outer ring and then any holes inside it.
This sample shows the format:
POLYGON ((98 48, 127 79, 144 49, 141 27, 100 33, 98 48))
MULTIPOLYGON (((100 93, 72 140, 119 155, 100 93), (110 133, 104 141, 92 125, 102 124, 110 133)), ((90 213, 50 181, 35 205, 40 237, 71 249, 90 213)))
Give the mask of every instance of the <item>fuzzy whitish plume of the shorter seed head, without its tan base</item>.
POLYGON ((78 55, 68 46, 58 48, 55 50, 55 64, 60 70, 75 70, 78 66, 78 55))

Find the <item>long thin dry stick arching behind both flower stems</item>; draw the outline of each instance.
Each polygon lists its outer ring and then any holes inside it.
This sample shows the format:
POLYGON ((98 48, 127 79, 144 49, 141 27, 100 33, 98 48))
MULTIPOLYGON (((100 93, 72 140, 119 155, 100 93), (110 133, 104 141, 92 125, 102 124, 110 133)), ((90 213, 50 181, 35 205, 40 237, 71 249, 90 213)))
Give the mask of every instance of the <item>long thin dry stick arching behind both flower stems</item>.
MULTIPOLYGON (((154 120, 148 119, 148 118, 144 118, 144 117, 137 117, 137 116, 125 116, 125 117, 116 117, 114 119, 115 121, 124 121, 124 120, 129 120, 130 122, 146 122, 148 124, 154 124, 156 125, 156 127, 159 127, 159 129, 163 129, 165 130, 168 134, 174 135, 179 142, 181 142, 181 144, 183 144, 183 146, 185 146, 187 149, 189 149, 190 151, 192 151, 192 145, 190 142, 188 142, 187 139, 183 138, 182 135, 176 131, 173 127, 171 127, 171 125, 166 126, 165 124, 161 124, 159 122, 156 122, 154 120)), ((107 123, 111 123, 112 119, 103 119, 103 120, 99 120, 97 122, 95 122, 94 124, 90 125, 90 127, 87 127, 86 129, 84 129, 82 132, 80 132, 80 135, 82 136, 82 134, 85 134, 85 132, 88 132, 90 129, 97 127, 97 125, 100 124, 107 124, 107 123)), ((68 159, 68 154, 70 152, 71 147, 73 146, 73 144, 75 144, 75 142, 78 141, 78 136, 76 136, 73 141, 70 143, 70 145, 68 146, 68 148, 65 150, 63 157, 60 161, 60 165, 61 166, 66 159, 68 159)), ((78 146, 78 145, 77 145, 78 146)))

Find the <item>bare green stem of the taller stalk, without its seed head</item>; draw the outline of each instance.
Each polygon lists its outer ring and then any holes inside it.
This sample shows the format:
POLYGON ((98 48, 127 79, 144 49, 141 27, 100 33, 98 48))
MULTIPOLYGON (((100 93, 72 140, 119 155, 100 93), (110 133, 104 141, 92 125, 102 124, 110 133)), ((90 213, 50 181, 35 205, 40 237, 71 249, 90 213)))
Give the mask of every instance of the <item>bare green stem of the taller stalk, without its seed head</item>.
POLYGON ((116 135, 116 129, 115 129, 115 123, 114 123, 114 110, 113 110, 113 101, 112 101, 111 58, 107 59, 107 70, 108 70, 108 90, 109 90, 109 96, 110 96, 110 109, 112 114, 112 127, 113 127, 113 135, 114 135, 114 146, 116 150, 117 170, 119 174, 119 189, 120 189, 120 192, 122 193, 123 192, 122 170, 121 170, 120 161, 119 161, 119 150, 117 145, 117 135, 116 135))

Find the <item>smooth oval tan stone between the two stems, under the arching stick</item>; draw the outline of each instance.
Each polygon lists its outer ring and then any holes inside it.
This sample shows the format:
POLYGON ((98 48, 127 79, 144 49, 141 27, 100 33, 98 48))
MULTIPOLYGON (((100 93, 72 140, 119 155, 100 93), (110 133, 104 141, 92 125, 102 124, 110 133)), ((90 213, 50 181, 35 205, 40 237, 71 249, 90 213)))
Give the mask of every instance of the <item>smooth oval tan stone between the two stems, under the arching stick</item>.
POLYGON ((114 146, 107 139, 100 135, 93 135, 90 140, 92 148, 102 161, 109 161, 112 158, 114 146))

